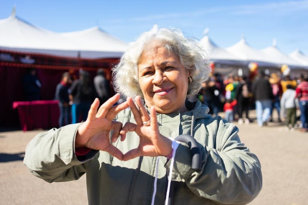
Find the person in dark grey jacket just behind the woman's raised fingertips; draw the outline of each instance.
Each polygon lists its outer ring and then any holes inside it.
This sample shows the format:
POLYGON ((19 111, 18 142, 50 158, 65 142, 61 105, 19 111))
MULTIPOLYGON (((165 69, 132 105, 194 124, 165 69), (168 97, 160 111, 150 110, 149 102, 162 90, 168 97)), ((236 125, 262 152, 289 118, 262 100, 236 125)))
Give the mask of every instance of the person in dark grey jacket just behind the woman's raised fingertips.
POLYGON ((102 105, 110 97, 110 85, 104 77, 104 70, 102 68, 97 70, 97 75, 94 77, 94 87, 99 98, 99 103, 102 105))

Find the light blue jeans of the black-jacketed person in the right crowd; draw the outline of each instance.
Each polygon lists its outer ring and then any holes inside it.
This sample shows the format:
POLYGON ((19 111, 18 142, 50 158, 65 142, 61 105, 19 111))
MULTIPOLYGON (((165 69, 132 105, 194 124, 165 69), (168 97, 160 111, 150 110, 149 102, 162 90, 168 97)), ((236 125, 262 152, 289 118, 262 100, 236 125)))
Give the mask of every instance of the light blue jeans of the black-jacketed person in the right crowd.
POLYGON ((256 100, 256 112, 257 112, 257 123, 262 126, 270 118, 270 110, 272 108, 272 101, 270 99, 266 100, 256 100))

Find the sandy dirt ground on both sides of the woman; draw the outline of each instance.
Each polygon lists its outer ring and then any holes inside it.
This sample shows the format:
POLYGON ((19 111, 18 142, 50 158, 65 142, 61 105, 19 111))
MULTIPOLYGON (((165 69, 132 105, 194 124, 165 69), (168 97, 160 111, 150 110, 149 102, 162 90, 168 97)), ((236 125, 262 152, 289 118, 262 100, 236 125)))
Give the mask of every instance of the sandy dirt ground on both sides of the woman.
MULTIPOLYGON (((307 204, 308 133, 286 131, 282 123, 238 127, 241 141, 258 156, 262 166, 263 188, 250 204, 307 204)), ((87 204, 85 176, 78 181, 49 184, 31 175, 23 165, 27 143, 40 132, 0 132, 0 204, 87 204)))

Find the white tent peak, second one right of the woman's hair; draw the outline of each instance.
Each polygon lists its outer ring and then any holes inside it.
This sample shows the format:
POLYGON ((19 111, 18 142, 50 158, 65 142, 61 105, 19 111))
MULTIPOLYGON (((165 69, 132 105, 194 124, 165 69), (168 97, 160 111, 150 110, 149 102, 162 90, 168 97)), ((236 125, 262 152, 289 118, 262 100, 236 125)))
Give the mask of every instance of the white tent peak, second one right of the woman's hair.
POLYGON ((267 61, 267 56, 263 52, 249 46, 244 38, 233 46, 226 48, 226 50, 236 55, 238 58, 237 60, 246 61, 247 65, 250 62, 257 62, 259 66, 276 66, 267 61))

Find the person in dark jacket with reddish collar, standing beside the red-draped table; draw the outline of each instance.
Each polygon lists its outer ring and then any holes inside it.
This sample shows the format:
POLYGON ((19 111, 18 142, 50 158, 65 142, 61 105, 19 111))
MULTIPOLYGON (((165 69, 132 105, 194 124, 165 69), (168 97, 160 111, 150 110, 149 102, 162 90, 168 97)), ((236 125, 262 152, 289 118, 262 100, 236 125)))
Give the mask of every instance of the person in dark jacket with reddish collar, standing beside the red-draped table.
POLYGON ((70 99, 68 97, 68 83, 71 76, 68 72, 62 74, 61 82, 57 85, 55 99, 59 100, 59 127, 70 124, 69 116, 71 113, 70 99))

